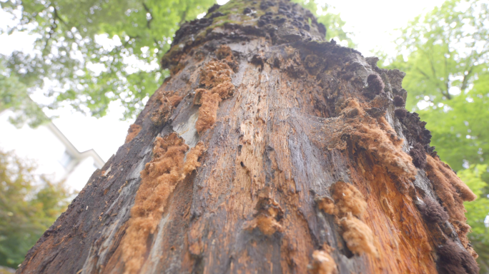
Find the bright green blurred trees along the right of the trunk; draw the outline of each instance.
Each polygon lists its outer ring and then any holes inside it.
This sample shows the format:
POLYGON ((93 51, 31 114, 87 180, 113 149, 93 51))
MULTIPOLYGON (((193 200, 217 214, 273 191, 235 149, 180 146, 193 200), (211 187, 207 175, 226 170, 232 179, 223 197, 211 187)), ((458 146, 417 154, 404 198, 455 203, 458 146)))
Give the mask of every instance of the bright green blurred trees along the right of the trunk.
POLYGON ((446 1, 400 31, 387 68, 406 77, 406 108, 426 121, 440 158, 478 195, 469 203, 470 239, 489 273, 489 8, 487 1, 446 1))

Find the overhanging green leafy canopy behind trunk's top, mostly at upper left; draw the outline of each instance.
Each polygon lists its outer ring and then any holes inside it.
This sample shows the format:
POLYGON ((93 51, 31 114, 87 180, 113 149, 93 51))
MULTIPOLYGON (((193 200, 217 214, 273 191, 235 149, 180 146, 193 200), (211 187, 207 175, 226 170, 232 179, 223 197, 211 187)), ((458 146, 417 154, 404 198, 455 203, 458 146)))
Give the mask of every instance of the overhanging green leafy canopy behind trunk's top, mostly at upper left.
MULTIPOLYGON (((351 44, 339 15, 327 14, 327 6, 314 1, 298 2, 313 13, 322 10, 319 21, 327 26, 328 39, 337 37, 351 44)), ((159 68, 159 60, 179 24, 195 19, 212 4, 214 0, 0 2, 7 13, 21 14, 16 16, 20 24, 8 33, 28 31, 39 37, 34 54, 16 51, 1 56, 5 64, 1 71, 23 83, 22 91, 46 89, 52 98, 49 108, 68 104, 102 117, 111 101, 119 101, 125 107, 124 118, 134 118, 169 75, 159 68)), ((27 114, 36 120, 36 113, 27 114)))

